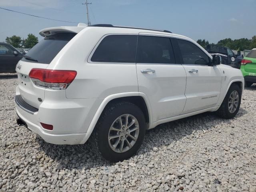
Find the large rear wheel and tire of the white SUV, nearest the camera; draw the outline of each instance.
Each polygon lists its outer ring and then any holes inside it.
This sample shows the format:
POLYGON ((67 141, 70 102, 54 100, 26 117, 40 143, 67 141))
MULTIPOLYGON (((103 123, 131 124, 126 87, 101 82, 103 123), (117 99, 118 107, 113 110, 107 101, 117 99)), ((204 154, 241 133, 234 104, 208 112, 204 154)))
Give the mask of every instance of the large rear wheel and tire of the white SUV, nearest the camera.
POLYGON ((138 151, 145 131, 146 121, 140 108, 130 102, 118 102, 102 112, 90 138, 98 154, 118 162, 138 151))

